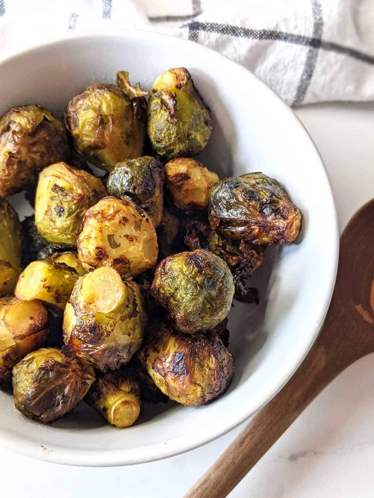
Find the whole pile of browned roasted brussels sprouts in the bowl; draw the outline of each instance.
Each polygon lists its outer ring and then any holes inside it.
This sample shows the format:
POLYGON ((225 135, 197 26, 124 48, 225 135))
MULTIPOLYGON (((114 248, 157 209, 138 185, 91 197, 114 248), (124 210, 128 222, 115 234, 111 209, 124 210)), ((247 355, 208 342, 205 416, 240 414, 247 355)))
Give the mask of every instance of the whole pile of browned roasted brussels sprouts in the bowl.
POLYGON ((73 97, 65 126, 37 105, 0 120, 0 387, 33 420, 84 399, 128 427, 141 402, 223 394, 232 299, 250 302, 266 246, 299 233, 276 180, 192 159, 212 124, 187 69, 147 95, 121 71, 73 97), (22 223, 5 199, 19 191, 22 223))

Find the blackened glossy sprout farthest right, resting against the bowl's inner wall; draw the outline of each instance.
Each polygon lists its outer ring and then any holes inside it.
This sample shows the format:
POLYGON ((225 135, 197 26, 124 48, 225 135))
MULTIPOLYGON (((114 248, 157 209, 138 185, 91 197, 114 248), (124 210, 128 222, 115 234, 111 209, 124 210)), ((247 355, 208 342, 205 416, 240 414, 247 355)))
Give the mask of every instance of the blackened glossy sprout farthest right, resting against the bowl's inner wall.
POLYGON ((209 189, 210 226, 223 238, 252 244, 290 244, 299 234, 300 209, 263 173, 248 173, 209 189))

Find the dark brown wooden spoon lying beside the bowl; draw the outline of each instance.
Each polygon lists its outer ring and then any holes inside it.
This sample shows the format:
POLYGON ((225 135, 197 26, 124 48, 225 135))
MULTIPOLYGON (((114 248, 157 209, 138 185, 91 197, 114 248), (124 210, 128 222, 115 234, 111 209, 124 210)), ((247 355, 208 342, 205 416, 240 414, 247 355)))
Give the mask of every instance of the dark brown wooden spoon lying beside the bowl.
MULTIPOLYGON (((327 245, 329 241, 316 244, 327 245)), ((356 213, 340 239, 338 275, 330 308, 307 357, 185 498, 226 497, 339 373, 373 352, 374 200, 356 213)))

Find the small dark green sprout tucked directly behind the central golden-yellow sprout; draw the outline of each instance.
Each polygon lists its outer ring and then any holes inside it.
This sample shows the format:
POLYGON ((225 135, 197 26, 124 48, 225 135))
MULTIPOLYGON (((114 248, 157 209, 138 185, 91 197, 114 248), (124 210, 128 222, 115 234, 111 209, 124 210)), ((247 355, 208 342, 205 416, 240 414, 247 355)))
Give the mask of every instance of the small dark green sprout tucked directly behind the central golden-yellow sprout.
POLYGON ((155 157, 143 156, 119 162, 109 174, 108 194, 118 199, 129 198, 151 217, 153 226, 160 225, 164 206, 164 168, 155 157))

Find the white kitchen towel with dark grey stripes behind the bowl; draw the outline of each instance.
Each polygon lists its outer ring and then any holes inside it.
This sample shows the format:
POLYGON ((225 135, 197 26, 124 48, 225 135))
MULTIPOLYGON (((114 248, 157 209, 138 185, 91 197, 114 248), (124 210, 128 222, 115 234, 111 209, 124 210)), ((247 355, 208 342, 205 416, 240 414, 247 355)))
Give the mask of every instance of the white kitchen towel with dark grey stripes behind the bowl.
POLYGON ((374 0, 0 0, 0 56, 111 26, 213 48, 290 105, 374 99, 374 0))

